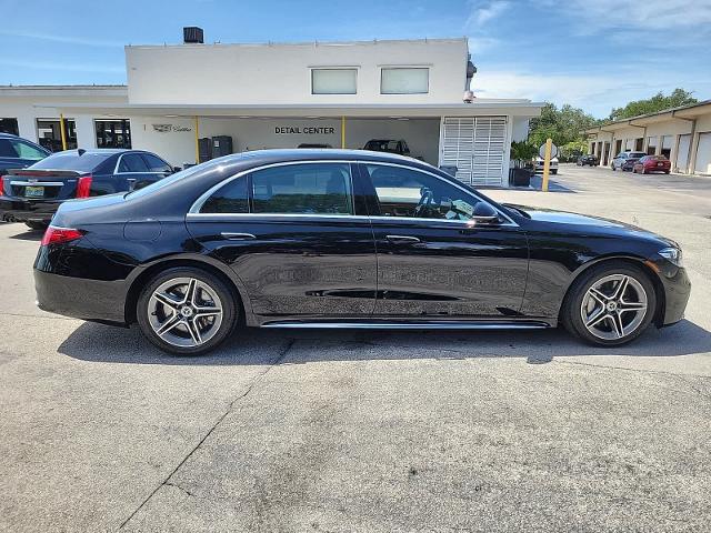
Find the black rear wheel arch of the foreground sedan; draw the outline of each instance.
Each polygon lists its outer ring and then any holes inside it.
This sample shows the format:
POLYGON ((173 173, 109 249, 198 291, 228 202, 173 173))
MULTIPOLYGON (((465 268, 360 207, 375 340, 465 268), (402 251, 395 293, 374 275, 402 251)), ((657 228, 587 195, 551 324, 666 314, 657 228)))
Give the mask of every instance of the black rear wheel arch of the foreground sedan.
POLYGON ((251 305, 247 293, 247 288, 237 274, 221 261, 200 254, 180 254, 162 258, 144 264, 140 272, 137 272, 129 280, 129 289, 126 294, 123 315, 127 324, 137 322, 136 305, 138 303, 141 290, 146 284, 159 272, 176 266, 191 266, 204 270, 219 278, 234 294, 238 309, 240 311, 239 320, 251 322, 251 305))

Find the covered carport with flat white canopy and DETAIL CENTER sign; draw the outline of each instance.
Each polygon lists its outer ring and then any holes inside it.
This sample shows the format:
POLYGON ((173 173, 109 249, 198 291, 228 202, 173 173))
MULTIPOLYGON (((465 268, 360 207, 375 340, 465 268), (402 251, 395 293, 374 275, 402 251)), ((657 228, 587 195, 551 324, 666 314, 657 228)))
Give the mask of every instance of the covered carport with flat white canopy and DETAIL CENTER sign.
POLYGON ((174 165, 206 159, 204 150, 201 157, 200 139, 229 138, 227 153, 300 144, 362 149, 369 140, 390 139, 404 140, 411 157, 457 168, 457 178, 465 183, 491 187, 508 187, 511 140, 525 139, 528 120, 540 113, 539 104, 521 100, 453 104, 58 107, 83 117, 83 122, 127 120, 132 148, 154 151, 174 165))

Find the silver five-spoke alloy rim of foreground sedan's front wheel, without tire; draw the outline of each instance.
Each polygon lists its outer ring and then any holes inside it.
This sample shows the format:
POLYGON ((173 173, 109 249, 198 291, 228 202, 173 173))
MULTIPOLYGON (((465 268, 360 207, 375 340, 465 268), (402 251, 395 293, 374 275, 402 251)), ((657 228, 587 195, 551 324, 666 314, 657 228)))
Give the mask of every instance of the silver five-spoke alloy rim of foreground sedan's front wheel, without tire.
POLYGON ((607 341, 623 339, 642 324, 648 312, 647 291, 628 274, 610 274, 585 292, 580 315, 585 329, 607 341))

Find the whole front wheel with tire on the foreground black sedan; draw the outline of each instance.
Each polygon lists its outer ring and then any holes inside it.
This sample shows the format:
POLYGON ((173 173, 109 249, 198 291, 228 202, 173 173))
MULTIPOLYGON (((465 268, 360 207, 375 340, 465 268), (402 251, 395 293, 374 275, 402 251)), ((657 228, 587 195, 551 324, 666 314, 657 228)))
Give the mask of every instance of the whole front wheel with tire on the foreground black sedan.
POLYGON ((570 333, 589 344, 619 346, 641 335, 652 322, 655 310, 657 293, 647 273, 624 261, 610 261, 590 268, 573 282, 561 308, 561 321, 570 333), (603 305, 603 298, 589 295, 590 289, 597 289, 605 298, 615 296, 618 283, 623 279, 628 280, 627 285, 617 301, 610 299, 603 305), (644 308, 631 309, 634 304, 644 308), (627 310, 618 312, 622 306, 627 310))

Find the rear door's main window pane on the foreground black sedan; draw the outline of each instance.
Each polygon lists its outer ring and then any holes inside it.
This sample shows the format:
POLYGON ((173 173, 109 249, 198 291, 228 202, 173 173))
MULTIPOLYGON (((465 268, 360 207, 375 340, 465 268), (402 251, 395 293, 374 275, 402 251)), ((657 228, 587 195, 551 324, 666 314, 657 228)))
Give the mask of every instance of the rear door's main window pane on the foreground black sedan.
POLYGON ((252 212, 353 214, 348 163, 286 164, 251 174, 252 212))

